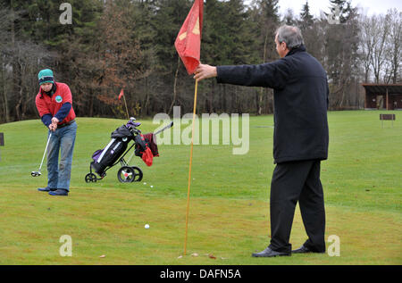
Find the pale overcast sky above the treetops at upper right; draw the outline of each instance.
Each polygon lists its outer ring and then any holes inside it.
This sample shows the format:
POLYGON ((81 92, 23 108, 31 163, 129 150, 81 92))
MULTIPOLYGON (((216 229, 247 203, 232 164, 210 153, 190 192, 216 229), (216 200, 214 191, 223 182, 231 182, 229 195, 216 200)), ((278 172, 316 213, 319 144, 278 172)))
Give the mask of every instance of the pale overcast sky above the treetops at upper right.
MULTIPOLYGON (((251 2, 251 1, 246 1, 251 2)), ((306 0, 279 0, 280 12, 284 14, 287 9, 291 8, 295 14, 298 14, 306 0)), ((320 10, 329 12, 331 6, 329 0, 308 0, 311 12, 314 16, 320 15, 320 10)), ((388 9, 397 8, 399 12, 402 11, 401 0, 352 0, 352 6, 359 6, 364 8, 364 12, 368 15, 373 13, 387 13, 388 9)))

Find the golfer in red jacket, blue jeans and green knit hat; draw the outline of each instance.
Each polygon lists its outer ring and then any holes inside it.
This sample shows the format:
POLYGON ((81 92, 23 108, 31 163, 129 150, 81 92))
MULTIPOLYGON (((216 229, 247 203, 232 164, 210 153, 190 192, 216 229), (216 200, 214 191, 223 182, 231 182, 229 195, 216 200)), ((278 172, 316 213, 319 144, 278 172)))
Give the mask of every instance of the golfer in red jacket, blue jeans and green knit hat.
POLYGON ((35 99, 42 122, 52 133, 47 148, 47 186, 38 190, 51 196, 70 192, 72 152, 77 134, 70 87, 54 81, 53 71, 39 71, 39 93, 35 99), (59 151, 61 151, 60 163, 59 151))

